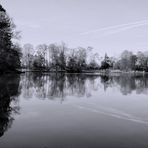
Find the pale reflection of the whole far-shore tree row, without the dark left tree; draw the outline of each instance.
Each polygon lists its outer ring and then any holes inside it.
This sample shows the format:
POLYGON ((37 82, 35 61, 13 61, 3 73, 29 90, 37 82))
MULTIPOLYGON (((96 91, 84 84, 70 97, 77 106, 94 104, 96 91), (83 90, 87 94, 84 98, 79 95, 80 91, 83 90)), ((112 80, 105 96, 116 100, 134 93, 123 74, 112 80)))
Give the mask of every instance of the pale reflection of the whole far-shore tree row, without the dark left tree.
POLYGON ((22 77, 23 97, 31 99, 33 96, 39 99, 61 101, 67 96, 91 97, 94 91, 103 87, 104 91, 116 88, 123 95, 136 92, 148 93, 148 77, 119 75, 97 76, 86 74, 26 74, 22 77))

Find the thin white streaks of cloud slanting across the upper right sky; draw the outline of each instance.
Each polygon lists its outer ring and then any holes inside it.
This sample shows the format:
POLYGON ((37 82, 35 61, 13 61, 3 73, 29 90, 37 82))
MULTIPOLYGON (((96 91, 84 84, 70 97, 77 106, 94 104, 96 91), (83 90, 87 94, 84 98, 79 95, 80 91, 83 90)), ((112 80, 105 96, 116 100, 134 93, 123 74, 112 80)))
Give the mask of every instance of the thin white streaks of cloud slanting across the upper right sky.
POLYGON ((148 25, 148 20, 127 23, 127 24, 121 24, 121 25, 115 25, 115 26, 109 26, 109 27, 103 27, 100 29, 95 29, 95 30, 80 33, 80 35, 89 35, 89 34, 98 33, 98 32, 105 32, 105 35, 110 35, 110 34, 123 32, 128 29, 133 29, 133 28, 141 27, 141 26, 145 26, 145 25, 148 25))

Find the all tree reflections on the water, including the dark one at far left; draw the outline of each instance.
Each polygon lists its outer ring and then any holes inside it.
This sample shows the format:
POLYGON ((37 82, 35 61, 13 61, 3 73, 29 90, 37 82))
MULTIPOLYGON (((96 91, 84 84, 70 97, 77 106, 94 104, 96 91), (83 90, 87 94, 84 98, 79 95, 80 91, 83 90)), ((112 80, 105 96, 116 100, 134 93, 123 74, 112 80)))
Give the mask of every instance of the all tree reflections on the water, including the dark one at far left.
POLYGON ((1 76, 0 136, 3 136, 4 132, 11 127, 14 120, 13 113, 19 113, 18 96, 23 99, 60 99, 62 102, 68 96, 89 98, 93 97, 94 92, 99 96, 100 90, 107 92, 112 88, 116 88, 123 95, 148 94, 148 77, 62 73, 47 75, 26 73, 21 76, 1 76))

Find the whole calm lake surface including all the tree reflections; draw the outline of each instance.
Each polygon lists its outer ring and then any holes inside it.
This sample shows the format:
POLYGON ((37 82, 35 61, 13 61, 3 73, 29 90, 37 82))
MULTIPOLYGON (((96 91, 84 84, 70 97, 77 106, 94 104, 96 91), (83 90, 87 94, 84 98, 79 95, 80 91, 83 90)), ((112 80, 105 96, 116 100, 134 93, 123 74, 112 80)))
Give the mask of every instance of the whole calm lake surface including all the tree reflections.
POLYGON ((0 77, 0 148, 148 148, 148 77, 0 77))

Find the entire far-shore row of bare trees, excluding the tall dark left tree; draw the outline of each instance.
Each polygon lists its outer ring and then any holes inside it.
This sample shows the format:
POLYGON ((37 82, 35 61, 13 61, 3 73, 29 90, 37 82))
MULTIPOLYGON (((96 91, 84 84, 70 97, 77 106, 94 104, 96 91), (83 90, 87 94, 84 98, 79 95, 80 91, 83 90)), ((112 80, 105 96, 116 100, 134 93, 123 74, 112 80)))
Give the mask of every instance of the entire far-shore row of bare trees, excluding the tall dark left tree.
POLYGON ((94 70, 120 70, 148 72, 148 52, 123 51, 119 58, 104 57, 93 52, 92 47, 68 48, 65 43, 41 44, 22 48, 22 68, 40 71, 93 72, 94 70))

